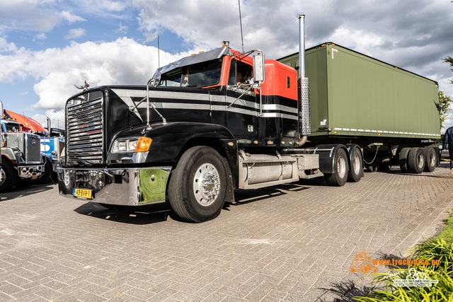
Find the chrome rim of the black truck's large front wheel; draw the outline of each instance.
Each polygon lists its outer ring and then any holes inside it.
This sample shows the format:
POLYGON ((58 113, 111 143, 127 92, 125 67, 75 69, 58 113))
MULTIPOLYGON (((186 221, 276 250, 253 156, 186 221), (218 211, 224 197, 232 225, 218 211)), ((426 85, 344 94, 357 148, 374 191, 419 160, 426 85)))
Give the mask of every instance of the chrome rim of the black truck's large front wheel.
POLYGON ((193 178, 195 199, 204 207, 210 206, 220 190, 219 172, 211 163, 203 163, 197 168, 193 178))

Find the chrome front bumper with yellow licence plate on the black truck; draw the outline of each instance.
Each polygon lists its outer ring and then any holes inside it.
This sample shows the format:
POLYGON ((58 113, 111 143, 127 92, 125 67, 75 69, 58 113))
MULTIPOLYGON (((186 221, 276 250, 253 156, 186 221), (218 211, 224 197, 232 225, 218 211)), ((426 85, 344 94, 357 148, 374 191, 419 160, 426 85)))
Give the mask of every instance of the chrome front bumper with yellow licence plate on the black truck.
POLYGON ((103 204, 137 206, 164 202, 170 171, 171 167, 166 166, 127 169, 57 168, 58 189, 64 197, 88 199, 103 204), (88 190, 91 198, 76 197, 76 189, 88 190))

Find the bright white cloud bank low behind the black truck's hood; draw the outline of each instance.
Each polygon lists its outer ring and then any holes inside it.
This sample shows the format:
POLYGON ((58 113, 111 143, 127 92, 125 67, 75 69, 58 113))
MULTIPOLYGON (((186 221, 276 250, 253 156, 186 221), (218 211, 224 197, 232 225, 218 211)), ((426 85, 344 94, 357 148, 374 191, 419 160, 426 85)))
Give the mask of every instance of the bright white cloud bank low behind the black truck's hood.
MULTIPOLYGON (((74 84, 84 80, 91 87, 107 84, 143 85, 157 68, 156 47, 121 38, 113 42, 71 42, 65 48, 39 52, 20 49, 12 56, 0 55, 0 82, 32 76, 39 101, 33 107, 61 110, 78 93, 74 84)), ((174 62, 184 54, 161 51, 161 62, 174 62)))

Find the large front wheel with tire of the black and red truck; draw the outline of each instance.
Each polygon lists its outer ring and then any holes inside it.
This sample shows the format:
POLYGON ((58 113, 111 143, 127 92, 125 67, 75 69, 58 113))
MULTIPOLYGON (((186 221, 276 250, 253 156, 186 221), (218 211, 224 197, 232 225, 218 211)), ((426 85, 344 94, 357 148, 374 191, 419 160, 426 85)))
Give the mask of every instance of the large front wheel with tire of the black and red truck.
POLYGON ((218 216, 226 197, 226 170, 224 158, 211 147, 195 146, 185 151, 168 183, 173 211, 191 222, 218 216))

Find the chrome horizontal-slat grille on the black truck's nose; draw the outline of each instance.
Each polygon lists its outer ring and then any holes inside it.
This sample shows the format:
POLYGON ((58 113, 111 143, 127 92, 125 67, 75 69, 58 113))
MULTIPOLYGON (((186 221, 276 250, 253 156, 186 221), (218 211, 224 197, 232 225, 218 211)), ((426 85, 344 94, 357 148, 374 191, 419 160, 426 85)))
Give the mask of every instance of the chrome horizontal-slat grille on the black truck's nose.
POLYGON ((102 163, 103 99, 86 98, 88 101, 67 107, 67 160, 102 163))

